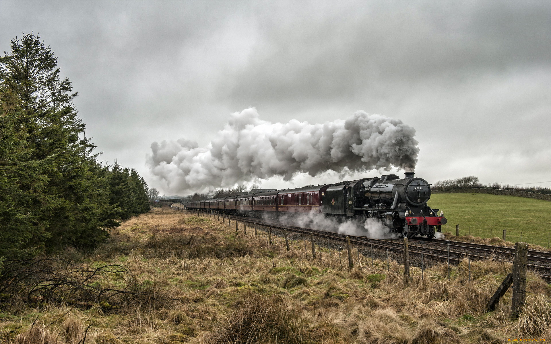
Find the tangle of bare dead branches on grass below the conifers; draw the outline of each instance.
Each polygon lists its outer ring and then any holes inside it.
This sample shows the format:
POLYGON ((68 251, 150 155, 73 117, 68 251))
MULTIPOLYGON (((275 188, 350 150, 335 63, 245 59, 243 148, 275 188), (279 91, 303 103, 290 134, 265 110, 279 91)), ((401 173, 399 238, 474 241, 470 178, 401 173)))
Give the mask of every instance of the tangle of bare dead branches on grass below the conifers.
POLYGON ((137 304, 154 308, 174 299, 163 289, 168 282, 142 281, 126 265, 90 266, 61 258, 7 262, 0 276, 0 306, 12 310, 50 302, 111 311, 137 304))

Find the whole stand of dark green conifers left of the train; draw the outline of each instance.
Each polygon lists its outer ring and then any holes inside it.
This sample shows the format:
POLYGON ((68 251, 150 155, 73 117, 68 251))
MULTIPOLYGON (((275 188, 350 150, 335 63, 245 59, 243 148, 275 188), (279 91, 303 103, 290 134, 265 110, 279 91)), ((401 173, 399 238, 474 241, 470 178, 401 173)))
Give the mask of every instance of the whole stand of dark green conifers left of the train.
POLYGON ((0 57, 0 267, 93 248, 121 220, 150 210, 136 170, 98 160, 73 105, 78 92, 50 46, 33 33, 10 43, 0 57))

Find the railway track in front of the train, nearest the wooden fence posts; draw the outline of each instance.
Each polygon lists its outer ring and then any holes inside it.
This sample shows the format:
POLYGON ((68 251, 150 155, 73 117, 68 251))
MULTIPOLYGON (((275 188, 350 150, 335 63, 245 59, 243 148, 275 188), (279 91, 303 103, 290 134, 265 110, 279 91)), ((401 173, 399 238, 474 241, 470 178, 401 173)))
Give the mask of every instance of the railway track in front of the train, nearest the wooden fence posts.
MULTIPOLYGON (((214 215, 213 216, 217 216, 214 215)), ((312 228, 296 227, 284 225, 279 222, 269 222, 262 219, 251 218, 247 216, 225 215, 226 219, 242 221, 245 223, 256 224, 266 227, 272 227, 279 230, 288 230, 295 233, 310 235, 330 239, 334 241, 346 242, 347 237, 350 239, 350 244, 374 247, 377 249, 388 249, 392 252, 403 252, 404 243, 402 241, 392 241, 383 239, 372 239, 366 237, 352 236, 339 234, 334 232, 326 232, 314 230, 312 228)), ((501 247, 493 245, 484 245, 476 243, 465 243, 458 241, 432 239, 412 239, 409 241, 409 255, 421 256, 434 259, 437 261, 450 261, 450 264, 459 264, 467 257, 473 260, 481 260, 491 258, 493 260, 511 262, 514 256, 514 248, 501 247), (434 247, 439 246, 442 248, 434 247), (445 248, 444 248, 445 247, 445 248), (476 253, 472 253, 476 252, 476 253), (478 253, 482 253, 478 254, 478 253)), ((528 260, 538 263, 551 263, 551 253, 529 250, 528 260)), ((542 277, 547 282, 551 282, 551 266, 528 264, 528 269, 533 270, 536 275, 542 277)))

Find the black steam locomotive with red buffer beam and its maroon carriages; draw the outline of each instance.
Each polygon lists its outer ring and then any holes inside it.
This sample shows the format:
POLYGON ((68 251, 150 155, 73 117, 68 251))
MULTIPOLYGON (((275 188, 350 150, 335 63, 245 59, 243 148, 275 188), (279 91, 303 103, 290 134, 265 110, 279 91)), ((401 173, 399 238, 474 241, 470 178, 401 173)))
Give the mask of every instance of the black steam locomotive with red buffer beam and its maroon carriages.
POLYGON ((406 172, 311 185, 298 189, 274 190, 186 204, 190 210, 210 210, 223 214, 277 219, 281 215, 320 214, 339 221, 354 219, 363 223, 376 218, 403 237, 433 238, 447 220, 431 209, 430 184, 406 172))

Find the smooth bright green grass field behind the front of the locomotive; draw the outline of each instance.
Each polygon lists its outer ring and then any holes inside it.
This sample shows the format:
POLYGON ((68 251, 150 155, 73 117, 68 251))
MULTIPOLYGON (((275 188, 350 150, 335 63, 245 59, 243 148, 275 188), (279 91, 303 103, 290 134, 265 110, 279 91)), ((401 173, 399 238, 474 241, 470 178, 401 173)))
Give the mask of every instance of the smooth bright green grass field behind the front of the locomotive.
POLYGON ((489 238, 500 237, 507 230, 507 241, 522 241, 545 248, 551 233, 551 202, 516 196, 488 194, 433 194, 429 200, 433 209, 444 211, 448 225, 443 226, 455 235, 468 234, 489 238))

